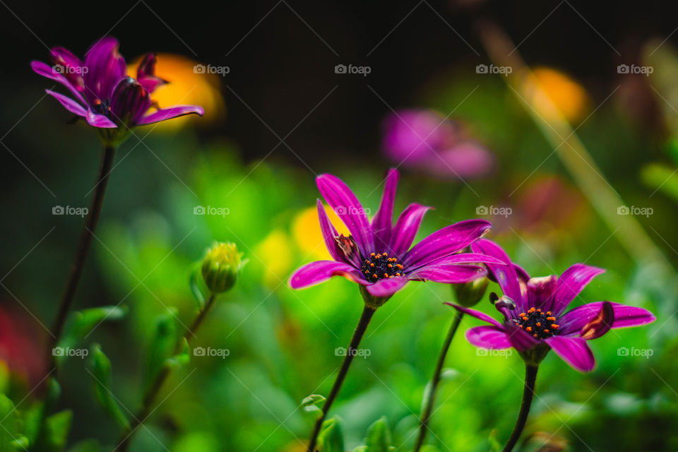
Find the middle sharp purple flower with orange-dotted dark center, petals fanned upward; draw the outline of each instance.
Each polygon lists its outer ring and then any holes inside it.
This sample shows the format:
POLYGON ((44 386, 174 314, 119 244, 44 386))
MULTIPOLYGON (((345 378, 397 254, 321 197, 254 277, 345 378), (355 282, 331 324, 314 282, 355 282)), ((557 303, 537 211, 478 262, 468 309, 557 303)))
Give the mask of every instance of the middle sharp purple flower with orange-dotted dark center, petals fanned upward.
POLYGON ((322 283, 332 276, 344 276, 362 285, 371 297, 385 299, 410 280, 439 283, 466 283, 486 270, 472 263, 501 261, 482 254, 459 254, 480 239, 492 225, 485 220, 466 220, 444 227, 410 249, 427 206, 410 204, 393 225, 398 171, 386 175, 381 206, 371 222, 355 194, 338 177, 321 174, 316 179, 325 201, 350 231, 340 235, 331 224, 323 203, 318 200, 318 216, 325 244, 333 261, 316 261, 299 268, 290 278, 294 289, 322 283))

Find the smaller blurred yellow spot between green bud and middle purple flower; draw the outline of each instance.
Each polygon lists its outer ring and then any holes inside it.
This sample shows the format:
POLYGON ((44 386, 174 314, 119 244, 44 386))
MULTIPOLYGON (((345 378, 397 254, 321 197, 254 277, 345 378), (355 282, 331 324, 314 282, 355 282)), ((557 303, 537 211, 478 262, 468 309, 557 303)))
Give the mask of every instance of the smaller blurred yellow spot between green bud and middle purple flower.
POLYGON ((263 282, 269 287, 277 287, 280 281, 286 281, 292 269, 293 250, 290 237, 281 230, 274 230, 254 249, 258 256, 253 262, 263 262, 263 282))

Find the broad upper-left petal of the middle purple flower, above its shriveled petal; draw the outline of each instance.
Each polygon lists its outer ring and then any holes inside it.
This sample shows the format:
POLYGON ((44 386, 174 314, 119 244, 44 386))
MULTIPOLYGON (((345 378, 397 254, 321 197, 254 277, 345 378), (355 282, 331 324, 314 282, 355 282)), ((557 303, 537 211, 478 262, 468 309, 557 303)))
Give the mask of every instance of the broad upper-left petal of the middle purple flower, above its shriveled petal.
POLYGON ((362 255, 369 255, 374 249, 373 236, 358 198, 341 179, 332 174, 316 177, 316 184, 325 201, 350 231, 362 255))

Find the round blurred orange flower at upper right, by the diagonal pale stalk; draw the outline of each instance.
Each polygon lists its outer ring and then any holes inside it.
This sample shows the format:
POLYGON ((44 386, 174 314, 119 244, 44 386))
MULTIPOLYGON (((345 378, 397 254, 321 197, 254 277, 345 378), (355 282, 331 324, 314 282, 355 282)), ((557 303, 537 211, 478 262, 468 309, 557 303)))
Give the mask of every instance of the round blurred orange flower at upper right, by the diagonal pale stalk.
POLYGON ((533 69, 533 76, 534 78, 526 79, 526 83, 536 81, 542 88, 540 91, 533 86, 527 87, 527 92, 531 97, 530 103, 537 112, 549 119, 561 114, 571 123, 583 119, 588 112, 589 98, 586 90, 579 83, 565 73, 547 67, 533 69), (546 99, 544 94, 549 98, 546 99))

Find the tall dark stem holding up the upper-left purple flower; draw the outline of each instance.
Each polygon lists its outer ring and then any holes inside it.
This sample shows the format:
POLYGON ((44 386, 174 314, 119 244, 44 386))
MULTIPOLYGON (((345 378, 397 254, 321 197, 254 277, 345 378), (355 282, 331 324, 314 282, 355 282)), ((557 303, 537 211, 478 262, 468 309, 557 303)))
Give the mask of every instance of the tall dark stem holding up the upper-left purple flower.
POLYGON ((76 249, 76 257, 73 261, 73 266, 71 267, 68 283, 66 283, 66 290, 59 303, 59 313, 57 314, 57 319, 54 321, 54 326, 52 327, 52 340, 49 342, 48 350, 50 370, 56 371, 57 369, 57 363, 54 359, 52 350, 59 345, 61 335, 64 333, 66 318, 73 306, 73 297, 76 295, 78 283, 83 275, 85 261, 87 261, 87 256, 92 246, 92 239, 94 238, 94 232, 97 229, 101 216, 101 209, 104 205, 104 196, 106 194, 106 187, 108 185, 109 174, 113 167, 114 158, 115 148, 111 145, 104 146, 104 155, 99 169, 99 177, 97 177, 94 198, 92 199, 89 215, 87 216, 87 222, 85 222, 85 228, 80 234, 80 241, 78 242, 78 248, 76 249))

